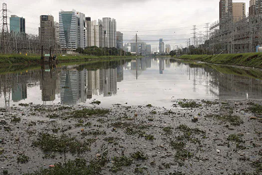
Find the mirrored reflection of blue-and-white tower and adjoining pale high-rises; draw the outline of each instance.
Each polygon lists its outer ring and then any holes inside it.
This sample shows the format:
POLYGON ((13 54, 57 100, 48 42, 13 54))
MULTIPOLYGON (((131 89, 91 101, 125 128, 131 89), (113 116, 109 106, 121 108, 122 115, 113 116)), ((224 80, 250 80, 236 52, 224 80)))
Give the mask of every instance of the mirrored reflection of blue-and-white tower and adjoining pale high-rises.
POLYGON ((76 104, 91 99, 93 95, 111 96, 117 93, 117 82, 124 79, 123 63, 106 68, 78 70, 73 67, 61 69, 61 103, 76 104))

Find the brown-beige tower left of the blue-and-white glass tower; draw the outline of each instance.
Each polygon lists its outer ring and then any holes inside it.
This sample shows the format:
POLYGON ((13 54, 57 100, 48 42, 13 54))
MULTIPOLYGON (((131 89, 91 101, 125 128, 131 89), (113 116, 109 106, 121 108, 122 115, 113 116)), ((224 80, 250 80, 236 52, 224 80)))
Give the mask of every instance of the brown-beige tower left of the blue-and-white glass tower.
POLYGON ((56 26, 52 15, 40 15, 40 27, 38 28, 41 41, 56 43, 56 26))

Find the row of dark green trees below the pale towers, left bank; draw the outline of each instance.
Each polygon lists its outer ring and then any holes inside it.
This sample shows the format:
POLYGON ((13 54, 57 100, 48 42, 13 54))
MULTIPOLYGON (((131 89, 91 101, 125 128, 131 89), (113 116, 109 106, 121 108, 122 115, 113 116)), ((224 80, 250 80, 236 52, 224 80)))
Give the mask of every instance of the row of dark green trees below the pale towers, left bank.
POLYGON ((115 47, 97 47, 90 46, 85 47, 84 49, 79 47, 76 49, 76 52, 87 55, 103 56, 103 55, 126 55, 130 56, 131 52, 126 52, 122 49, 117 49, 115 47))

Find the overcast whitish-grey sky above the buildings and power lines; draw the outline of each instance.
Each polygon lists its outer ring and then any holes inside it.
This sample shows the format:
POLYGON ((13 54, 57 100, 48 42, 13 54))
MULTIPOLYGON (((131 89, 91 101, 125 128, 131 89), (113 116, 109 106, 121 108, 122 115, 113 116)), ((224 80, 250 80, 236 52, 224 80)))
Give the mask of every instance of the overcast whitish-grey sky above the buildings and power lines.
MULTIPOLYGON (((25 18, 26 33, 38 34, 39 16, 51 14, 59 22, 60 10, 82 12, 91 20, 102 17, 115 18, 117 31, 124 33, 124 43, 130 42, 137 32, 139 38, 152 49, 159 38, 165 44, 186 46, 192 38, 193 25, 197 32, 205 34, 205 23, 219 19, 219 0, 2 0, 7 3, 8 13, 25 18)), ((249 0, 246 2, 248 13, 249 0)), ((9 21, 9 19, 8 19, 9 21)))

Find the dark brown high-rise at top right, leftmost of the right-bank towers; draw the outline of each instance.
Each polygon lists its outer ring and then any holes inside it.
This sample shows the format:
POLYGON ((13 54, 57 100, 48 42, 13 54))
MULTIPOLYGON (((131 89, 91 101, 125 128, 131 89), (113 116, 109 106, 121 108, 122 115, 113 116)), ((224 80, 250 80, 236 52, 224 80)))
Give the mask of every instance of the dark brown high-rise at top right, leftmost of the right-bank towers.
POLYGON ((233 4, 232 0, 220 0, 219 2, 219 20, 233 19, 233 4))

